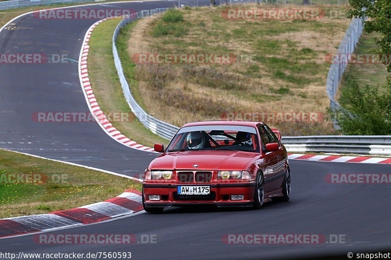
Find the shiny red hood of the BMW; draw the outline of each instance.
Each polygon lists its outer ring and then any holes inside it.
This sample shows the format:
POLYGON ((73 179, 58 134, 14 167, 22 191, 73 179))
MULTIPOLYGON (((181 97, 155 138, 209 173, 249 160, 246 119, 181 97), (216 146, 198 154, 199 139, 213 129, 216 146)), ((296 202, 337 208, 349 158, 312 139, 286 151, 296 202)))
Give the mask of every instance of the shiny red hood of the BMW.
POLYGON ((242 151, 185 151, 164 154, 150 164, 152 170, 243 170, 257 153, 242 151), (197 164, 198 167, 193 167, 197 164))

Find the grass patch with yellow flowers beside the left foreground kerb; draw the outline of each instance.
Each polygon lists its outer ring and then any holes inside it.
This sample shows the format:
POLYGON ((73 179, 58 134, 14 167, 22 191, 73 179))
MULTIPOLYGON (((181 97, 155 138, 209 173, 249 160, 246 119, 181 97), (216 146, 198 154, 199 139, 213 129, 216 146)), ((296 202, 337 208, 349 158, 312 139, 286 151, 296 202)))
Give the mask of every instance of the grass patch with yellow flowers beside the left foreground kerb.
POLYGON ((80 207, 116 197, 128 188, 141 190, 141 183, 0 149, 1 219, 80 207), (15 181, 12 174, 35 176, 36 181, 29 177, 15 181))

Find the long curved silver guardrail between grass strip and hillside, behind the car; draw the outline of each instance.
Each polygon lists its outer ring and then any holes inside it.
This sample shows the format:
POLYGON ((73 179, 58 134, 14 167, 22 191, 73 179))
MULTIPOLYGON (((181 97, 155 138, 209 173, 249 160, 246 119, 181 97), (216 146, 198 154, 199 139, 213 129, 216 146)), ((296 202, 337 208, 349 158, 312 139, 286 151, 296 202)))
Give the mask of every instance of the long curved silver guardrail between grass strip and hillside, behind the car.
POLYGON ((164 139, 171 140, 171 138, 179 130, 179 127, 174 126, 169 123, 166 123, 166 122, 163 122, 161 120, 158 120, 158 119, 152 117, 147 112, 145 112, 144 109, 142 109, 139 104, 137 104, 136 100, 134 100, 133 96, 130 93, 129 84, 128 84, 127 80, 125 79, 124 71, 122 69, 122 63, 121 63, 121 60, 118 56, 118 51, 117 51, 117 47, 115 44, 115 42, 117 40, 117 36, 118 36, 121 28, 123 28, 125 25, 127 25, 131 21, 134 21, 134 20, 137 20, 137 19, 140 19, 143 17, 151 16, 151 15, 154 15, 157 13, 161 13, 166 10, 168 10, 168 8, 157 8, 157 9, 153 9, 153 10, 140 11, 140 12, 136 13, 135 15, 132 15, 128 18, 121 20, 118 23, 117 27, 115 28, 113 40, 112 40, 112 45, 113 45, 113 56, 114 56, 115 67, 118 72, 118 77, 121 82, 121 86, 122 86, 122 90, 125 95, 125 99, 128 102, 131 111, 138 118, 138 120, 140 120, 141 123, 145 127, 147 127, 147 129, 152 131, 152 133, 154 133, 164 139))

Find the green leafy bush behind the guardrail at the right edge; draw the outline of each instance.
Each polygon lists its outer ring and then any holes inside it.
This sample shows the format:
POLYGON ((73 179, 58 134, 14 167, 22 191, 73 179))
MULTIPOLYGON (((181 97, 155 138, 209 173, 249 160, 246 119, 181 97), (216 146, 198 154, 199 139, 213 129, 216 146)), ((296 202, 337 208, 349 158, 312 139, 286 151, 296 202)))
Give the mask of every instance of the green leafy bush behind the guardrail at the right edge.
POLYGON ((390 135, 391 78, 386 84, 386 92, 379 93, 377 88, 360 88, 356 80, 349 79, 341 91, 343 109, 327 109, 328 120, 335 120, 344 135, 390 135))

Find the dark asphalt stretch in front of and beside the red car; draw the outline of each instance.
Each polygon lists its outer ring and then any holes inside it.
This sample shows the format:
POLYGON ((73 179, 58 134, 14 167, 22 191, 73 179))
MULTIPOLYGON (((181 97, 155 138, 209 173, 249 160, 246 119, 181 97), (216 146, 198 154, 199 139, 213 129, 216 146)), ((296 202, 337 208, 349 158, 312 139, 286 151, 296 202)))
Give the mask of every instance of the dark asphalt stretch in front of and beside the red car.
POLYGON ((326 173, 385 173, 388 165, 290 161, 293 194, 289 202, 266 203, 261 210, 211 208, 140 214, 53 234, 151 234, 155 244, 47 245, 33 236, 0 240, 4 252, 85 253, 130 251, 134 259, 271 259, 390 249, 390 185, 328 184, 326 173), (341 234, 345 244, 225 244, 225 234, 341 234))

